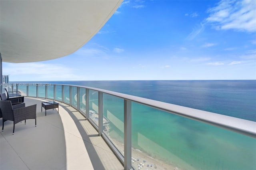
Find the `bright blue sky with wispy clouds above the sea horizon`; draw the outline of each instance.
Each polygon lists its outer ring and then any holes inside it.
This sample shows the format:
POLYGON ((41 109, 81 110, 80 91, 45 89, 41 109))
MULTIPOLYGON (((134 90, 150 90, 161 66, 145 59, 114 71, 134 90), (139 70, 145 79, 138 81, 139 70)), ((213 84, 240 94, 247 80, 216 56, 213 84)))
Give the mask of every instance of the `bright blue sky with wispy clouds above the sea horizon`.
POLYGON ((3 74, 10 81, 256 79, 256 1, 125 0, 78 51, 3 63, 3 74))

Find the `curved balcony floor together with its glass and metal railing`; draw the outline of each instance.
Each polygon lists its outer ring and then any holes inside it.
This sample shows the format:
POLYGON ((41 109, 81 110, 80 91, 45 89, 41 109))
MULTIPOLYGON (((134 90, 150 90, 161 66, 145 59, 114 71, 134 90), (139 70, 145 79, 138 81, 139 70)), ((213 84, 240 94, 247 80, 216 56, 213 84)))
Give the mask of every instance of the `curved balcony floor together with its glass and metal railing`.
POLYGON ((17 167, 25 169, 256 166, 253 121, 92 87, 16 84, 10 88, 28 97, 27 105, 37 103, 38 126, 19 123, 12 135, 12 122, 6 122, 1 132, 1 169, 15 168, 14 159, 21 164, 17 167), (59 114, 54 109, 45 116, 44 109, 41 112, 45 100, 58 101, 59 114))

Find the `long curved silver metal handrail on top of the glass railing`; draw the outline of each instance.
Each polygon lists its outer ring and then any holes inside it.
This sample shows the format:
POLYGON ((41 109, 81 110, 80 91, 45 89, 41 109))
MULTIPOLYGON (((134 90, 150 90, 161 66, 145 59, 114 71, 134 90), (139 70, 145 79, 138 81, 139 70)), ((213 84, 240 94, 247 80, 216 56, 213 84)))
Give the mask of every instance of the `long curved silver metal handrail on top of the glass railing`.
MULTIPOLYGON (((54 84, 54 85, 62 85, 62 84, 54 84)), ((240 134, 244 134, 244 135, 256 138, 256 122, 254 121, 248 121, 248 120, 240 119, 236 117, 221 115, 221 114, 212 113, 208 111, 202 111, 199 109, 193 109, 189 107, 183 107, 179 105, 174 105, 174 104, 165 103, 161 101, 155 101, 152 99, 146 99, 143 97, 137 97, 133 95, 127 95, 124 93, 118 93, 114 91, 108 91, 104 89, 98 89, 94 87, 86 87, 86 86, 79 86, 79 85, 69 85, 69 86, 81 87, 81 88, 102 92, 108 95, 126 99, 128 101, 133 101, 149 107, 153 107, 155 109, 159 109, 168 113, 186 117, 188 119, 200 121, 206 124, 214 125, 220 128, 225 128, 227 130, 231 130, 240 134)))

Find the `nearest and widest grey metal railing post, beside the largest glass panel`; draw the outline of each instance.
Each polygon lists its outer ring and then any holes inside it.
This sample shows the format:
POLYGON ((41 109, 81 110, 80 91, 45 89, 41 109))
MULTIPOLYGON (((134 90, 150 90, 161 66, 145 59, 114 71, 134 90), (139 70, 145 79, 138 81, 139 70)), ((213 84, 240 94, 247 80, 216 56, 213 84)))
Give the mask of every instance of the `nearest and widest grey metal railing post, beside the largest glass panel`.
POLYGON ((124 169, 132 169, 132 102, 124 100, 124 169))

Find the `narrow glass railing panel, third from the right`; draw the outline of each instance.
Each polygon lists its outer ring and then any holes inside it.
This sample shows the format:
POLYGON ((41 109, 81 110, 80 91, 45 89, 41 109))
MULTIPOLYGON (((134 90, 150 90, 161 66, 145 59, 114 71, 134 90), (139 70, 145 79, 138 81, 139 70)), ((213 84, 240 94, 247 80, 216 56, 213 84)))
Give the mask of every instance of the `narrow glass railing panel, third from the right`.
POLYGON ((91 119, 98 126, 98 91, 89 90, 89 105, 89 119, 91 119))

